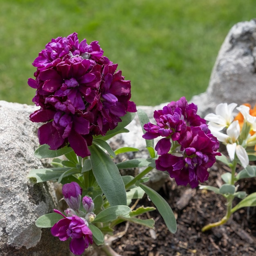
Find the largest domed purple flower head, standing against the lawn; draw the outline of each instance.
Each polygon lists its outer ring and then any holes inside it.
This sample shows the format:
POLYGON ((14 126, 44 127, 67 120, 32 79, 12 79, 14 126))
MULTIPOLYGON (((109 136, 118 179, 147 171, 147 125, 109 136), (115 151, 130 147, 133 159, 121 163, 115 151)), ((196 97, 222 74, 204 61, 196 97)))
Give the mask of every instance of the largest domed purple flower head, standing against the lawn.
POLYGON ((136 112, 130 81, 103 56, 97 41, 79 43, 75 32, 52 39, 33 65, 35 79, 28 84, 36 89, 33 102, 40 109, 30 120, 46 123, 38 129, 38 138, 52 150, 70 144, 86 157, 93 135, 105 135, 126 112, 136 112))

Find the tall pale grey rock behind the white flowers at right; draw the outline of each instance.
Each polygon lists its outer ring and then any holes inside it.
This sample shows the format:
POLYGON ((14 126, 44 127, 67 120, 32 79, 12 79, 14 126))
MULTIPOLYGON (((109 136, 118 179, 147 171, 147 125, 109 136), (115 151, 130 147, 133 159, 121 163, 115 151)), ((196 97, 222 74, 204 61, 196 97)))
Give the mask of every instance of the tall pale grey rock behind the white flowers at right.
POLYGON ((219 103, 256 103, 256 20, 239 22, 229 31, 218 53, 207 91, 194 96, 202 116, 219 103))

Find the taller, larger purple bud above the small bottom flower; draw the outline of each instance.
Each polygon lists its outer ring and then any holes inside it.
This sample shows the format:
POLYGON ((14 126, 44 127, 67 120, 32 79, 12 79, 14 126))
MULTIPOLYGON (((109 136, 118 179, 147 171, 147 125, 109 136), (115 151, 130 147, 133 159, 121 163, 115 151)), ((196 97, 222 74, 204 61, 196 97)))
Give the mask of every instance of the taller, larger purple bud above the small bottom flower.
POLYGON ((67 205, 74 211, 80 208, 82 189, 76 182, 63 185, 62 193, 67 205))

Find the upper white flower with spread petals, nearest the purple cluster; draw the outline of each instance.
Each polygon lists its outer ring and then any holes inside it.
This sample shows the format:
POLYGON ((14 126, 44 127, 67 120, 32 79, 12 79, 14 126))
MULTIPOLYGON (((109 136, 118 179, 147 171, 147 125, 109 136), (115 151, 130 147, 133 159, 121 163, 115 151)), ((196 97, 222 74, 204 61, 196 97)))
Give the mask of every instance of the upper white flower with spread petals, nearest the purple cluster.
POLYGON ((204 117, 205 120, 209 122, 209 128, 214 128, 216 130, 222 130, 223 128, 229 127, 229 125, 234 120, 233 110, 236 108, 236 103, 220 103, 216 106, 216 114, 208 114, 204 117))

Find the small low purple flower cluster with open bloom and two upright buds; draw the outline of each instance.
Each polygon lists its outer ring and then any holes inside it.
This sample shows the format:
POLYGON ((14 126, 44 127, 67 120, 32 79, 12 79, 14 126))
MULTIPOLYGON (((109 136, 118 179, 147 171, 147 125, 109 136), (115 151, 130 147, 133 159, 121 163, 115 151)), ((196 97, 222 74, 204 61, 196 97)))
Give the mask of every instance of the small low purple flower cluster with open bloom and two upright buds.
POLYGON ((79 211, 81 204, 82 189, 76 182, 63 185, 63 196, 70 208, 65 210, 67 216, 54 209, 54 212, 61 214, 64 218, 59 220, 51 229, 53 236, 58 236, 61 241, 71 238, 70 251, 80 255, 93 243, 92 231, 88 222, 92 222, 96 215, 93 213, 94 203, 92 198, 84 196, 82 203, 87 213, 79 211))

